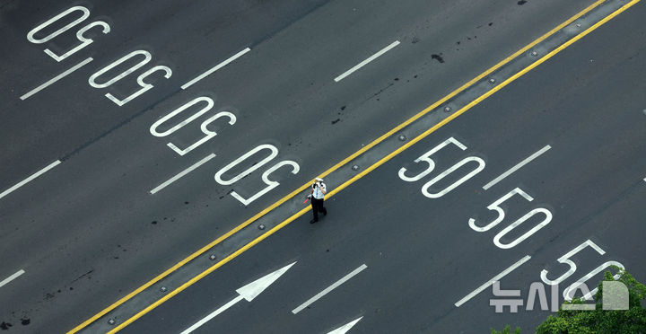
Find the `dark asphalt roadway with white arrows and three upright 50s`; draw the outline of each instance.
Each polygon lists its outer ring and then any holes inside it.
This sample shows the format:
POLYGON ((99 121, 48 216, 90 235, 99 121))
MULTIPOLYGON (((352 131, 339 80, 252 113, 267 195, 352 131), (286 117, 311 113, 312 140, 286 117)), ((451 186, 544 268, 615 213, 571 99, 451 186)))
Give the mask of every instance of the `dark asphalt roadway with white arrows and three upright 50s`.
MULTIPOLYGON (((205 330, 326 332, 361 315, 356 332, 480 332, 505 323, 527 330, 548 312, 496 314, 489 305, 490 290, 459 308, 454 303, 528 254, 532 259, 502 280, 503 289, 520 289, 525 297, 529 284, 540 282, 542 269, 553 278, 563 274, 566 268, 556 259, 586 240, 606 253, 581 252, 575 259, 579 269, 565 285, 608 260, 619 261, 640 279, 646 275, 644 231, 636 218, 646 214, 641 205, 646 196, 646 120, 640 111, 646 101, 638 78, 646 59, 638 43, 615 51, 642 34, 634 27, 643 11, 638 4, 329 199, 329 215, 321 224, 306 224, 301 218, 300 224, 275 233, 124 331, 172 330, 177 322, 205 312, 211 301, 221 300, 223 286, 237 284, 229 282, 232 277, 247 277, 252 269, 280 268, 293 260, 299 265, 257 303, 210 322, 205 330), (600 44, 608 48, 598 48, 600 44), (453 147, 437 154, 437 170, 423 181, 408 183, 397 177, 401 167, 411 175, 423 171, 425 166, 415 169, 413 160, 450 136, 467 145, 467 151, 453 147), (482 189, 545 145, 552 149, 491 189, 482 189), (483 172, 442 198, 421 194, 423 182, 471 155, 485 160, 483 172), (504 223, 492 231, 479 233, 468 227, 469 217, 491 222, 496 215, 486 206, 515 187, 535 200, 506 201, 504 223), (493 244, 505 225, 536 207, 546 207, 554 219, 510 250, 493 244), (371 270, 361 281, 349 281, 352 286, 327 295, 299 313, 301 317, 290 314, 302 298, 318 291, 320 281, 341 277, 363 262, 371 270)), ((502 242, 511 242, 529 227, 521 228, 502 242)))

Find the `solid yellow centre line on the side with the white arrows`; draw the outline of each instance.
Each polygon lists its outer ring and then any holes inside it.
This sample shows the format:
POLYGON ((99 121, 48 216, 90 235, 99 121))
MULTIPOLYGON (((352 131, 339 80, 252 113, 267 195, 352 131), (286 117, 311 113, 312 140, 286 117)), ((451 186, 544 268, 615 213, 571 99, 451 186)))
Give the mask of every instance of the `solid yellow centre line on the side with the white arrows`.
MULTIPOLYGON (((525 68, 523 68, 521 71, 519 71, 519 73, 517 73, 517 74, 515 74, 515 75, 512 75, 510 78, 508 78, 507 80, 503 81, 501 84, 499 84, 499 85, 495 86, 491 91, 489 91, 489 92, 485 92, 485 94, 481 95, 481 96, 480 96, 480 97, 478 97, 476 100, 471 101, 471 102, 470 102, 470 103, 468 103, 466 106, 464 106, 462 109, 460 109, 460 110, 456 111, 454 114, 450 115, 450 117, 448 117, 448 118, 446 118, 446 119, 443 119, 443 120, 442 120, 440 123, 438 123, 437 125, 435 125, 435 126, 433 126, 433 127, 429 128, 428 130, 424 131, 421 135, 416 136, 414 139, 412 139, 411 141, 409 141, 408 143, 406 143, 406 145, 402 145, 401 147, 397 148, 397 150, 395 150, 395 151, 393 151, 392 153, 388 154, 387 156, 385 156, 384 158, 382 158, 379 162, 372 164, 369 168, 367 168, 366 170, 364 170, 364 171, 362 171, 362 172, 358 173, 358 174, 357 174, 357 175, 355 175, 352 179, 345 181, 342 185, 340 185, 339 187, 336 187, 336 189, 334 189, 334 190, 332 190, 332 191, 328 192, 328 193, 327 193, 327 198, 331 198, 332 196, 334 196, 336 193, 338 193, 338 192, 339 192, 339 191, 341 191, 342 189, 345 189, 347 186, 349 186, 349 185, 351 185, 352 183, 354 183, 354 181, 361 179, 363 176, 365 176, 365 175, 366 175, 366 174, 368 174, 369 172, 371 172, 371 171, 375 170, 376 168, 378 168, 378 167, 379 167, 380 165, 382 165, 383 163, 388 162, 388 160, 392 159, 392 158, 393 158, 394 156, 396 156, 397 154, 400 154, 401 152, 403 152, 404 150, 406 150, 408 147, 410 147, 410 146, 412 146, 412 145, 415 145, 415 143, 419 142, 419 141, 420 141, 420 140, 422 140, 424 137, 429 136, 430 134, 432 134, 432 132, 434 132, 434 131, 435 131, 435 130, 437 130, 438 128, 440 128, 440 127, 442 127, 442 126, 446 125, 446 124, 447 124, 447 123, 449 123, 452 119, 455 119, 455 118, 457 118, 459 115, 461 115, 461 114, 465 113, 467 110, 470 110, 471 108, 473 108, 474 106, 476 106, 476 105, 477 105, 478 103, 480 103, 481 101, 484 101, 486 98, 488 98, 489 96, 493 95, 493 93, 500 91, 502 88, 504 88, 504 87, 505 87, 506 85, 508 85, 508 84, 511 84, 513 81, 515 81, 516 79, 518 79, 520 76, 527 74, 527 73, 528 73, 529 71, 531 71, 533 68, 535 68, 535 67, 537 67, 537 66, 539 66, 539 65, 543 64, 547 59, 549 59, 549 58, 551 58, 551 57, 554 57, 554 55, 556 55, 557 53, 561 52, 564 48, 569 47, 570 45, 572 45, 572 44, 573 44, 574 42, 576 42, 577 40, 581 40, 581 38, 583 38, 584 36, 588 35, 588 34, 589 34, 589 32, 596 30, 598 27, 600 27, 600 26, 601 26, 601 25, 603 25, 604 23, 606 23, 606 22, 610 21, 612 18, 614 18, 614 17, 615 17, 616 15, 618 15, 619 13, 624 12, 626 9, 630 8, 631 6, 633 6, 633 4, 637 4, 637 3, 638 3, 638 2, 640 2, 640 1, 641 1, 641 0, 633 0, 633 1, 631 1, 630 3, 628 3, 628 4, 624 4, 624 6, 622 6, 622 7, 621 7, 621 8, 619 8, 618 10, 616 10, 614 13, 611 13, 610 15, 608 15, 607 17, 605 17, 605 18, 604 18, 604 19, 602 19, 601 21, 599 21, 599 22, 595 23, 595 24, 594 24, 594 25, 592 25, 590 28, 588 28, 586 31, 583 31, 583 32, 581 32, 579 35, 577 35, 577 36, 575 36, 574 38, 572 38, 572 40, 568 40, 568 41, 566 41, 563 45, 561 45, 561 46, 559 46, 558 48, 555 48, 553 51, 549 52, 545 57, 541 57, 541 58, 540 58, 540 59, 538 59, 536 62, 532 63, 531 65, 529 65, 529 66, 527 66, 527 67, 525 67, 525 68)), ((232 253, 231 255, 229 255, 228 257, 226 257, 226 258, 222 259, 220 262, 218 262, 218 263, 214 264, 214 266, 212 266, 211 268, 208 268, 208 269, 206 269, 205 271, 203 271, 202 273, 200 273, 199 275, 197 275, 196 277, 191 278, 190 280, 188 280, 188 282, 184 283, 183 285, 179 286, 177 289, 175 289, 175 290, 173 290, 172 292, 170 292, 170 294, 164 295, 164 296, 163 296, 160 300, 158 300, 157 302, 155 302, 155 303, 152 303, 152 304, 148 305, 148 307, 146 307, 144 310, 142 310, 141 312, 136 313, 136 314, 135 314, 135 316, 133 316, 133 317, 131 317, 130 319, 128 319, 127 321, 123 322, 123 323, 122 323, 122 324, 120 324, 118 327, 116 327, 114 330, 110 330, 110 331, 109 331, 109 334, 111 334, 111 333, 116 333, 116 332, 118 332, 118 330, 122 330, 122 329, 123 329, 123 328, 125 328, 127 325, 129 325, 130 323, 132 323, 132 322, 136 321, 137 319, 141 318, 141 317, 142 317, 144 314, 146 314, 147 312, 152 311, 152 310, 153 310, 154 308, 156 308, 157 306, 159 306, 159 305, 161 305, 162 303, 164 303, 164 302, 168 301, 168 300, 169 300, 170 298, 172 298, 174 295, 179 294, 180 292, 184 291, 188 286, 192 286, 193 284, 195 284, 195 283, 196 283, 197 281, 199 281, 200 279, 202 279, 202 278, 204 278, 205 276, 207 276, 208 274, 212 273, 215 269, 222 267, 224 264, 226 264, 227 262, 231 261, 231 259, 236 258, 236 257, 237 257, 237 256, 239 256, 241 253, 243 253, 243 252, 245 252, 245 251, 249 250, 251 247, 253 247, 253 246, 255 246, 256 244, 258 244, 258 242, 262 242, 262 241, 263 241, 263 240, 265 240, 268 236, 270 236, 270 235, 274 234, 275 232, 277 232, 278 230, 282 229, 282 228, 283 228, 284 226, 286 226, 287 224, 292 223, 292 221, 294 221, 296 218, 300 217, 301 215, 304 215, 304 214, 305 214, 306 212, 308 212, 309 210, 310 210, 310 207, 304 207, 304 208, 302 208, 302 209, 301 209, 301 211, 299 211, 298 213, 296 213, 296 214, 292 215, 292 216, 291 216, 291 217, 289 217, 288 219, 284 220, 281 224, 276 225, 274 228, 272 228, 271 230, 269 230, 269 231, 267 231, 266 233, 262 234, 262 235, 261 235, 261 236, 259 236, 257 239, 255 239, 255 240, 253 240, 253 241, 249 242, 248 244, 244 245, 242 248, 240 248, 240 250, 233 252, 233 253, 232 253)))

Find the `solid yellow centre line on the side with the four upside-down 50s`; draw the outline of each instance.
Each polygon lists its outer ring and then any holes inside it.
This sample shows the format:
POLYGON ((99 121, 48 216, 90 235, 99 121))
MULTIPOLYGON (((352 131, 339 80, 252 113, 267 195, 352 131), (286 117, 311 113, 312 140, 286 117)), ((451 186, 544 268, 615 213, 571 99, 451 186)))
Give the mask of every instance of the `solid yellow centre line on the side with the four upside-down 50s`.
MULTIPOLYGON (((570 19, 568 19, 567 21, 559 24, 558 26, 556 26, 551 31, 548 31, 546 34, 539 37, 537 40, 532 41, 531 43, 529 43, 524 48, 520 48, 518 51, 513 53, 510 57, 504 58, 501 62, 499 62, 498 64, 496 64, 496 65, 492 66, 491 68, 487 69, 481 75, 478 75, 475 78, 471 79, 469 82, 467 82, 467 84, 463 84, 462 86, 460 86, 455 91, 450 92, 449 95, 444 96, 441 100, 436 101, 432 105, 428 106, 426 109, 424 109, 424 110, 418 112, 417 114, 415 114, 415 116, 413 116, 412 118, 407 119, 404 123, 401 123, 397 127, 392 128, 390 131, 388 131, 384 135, 382 135, 379 138, 373 140, 370 144, 363 146, 362 149, 360 149, 357 152, 355 152, 354 154, 346 157, 344 160, 340 161, 339 163, 336 163, 334 166, 329 168, 327 171, 324 171, 322 174, 320 174, 319 177, 323 178, 323 177, 327 176, 331 172, 336 171, 338 168, 345 165, 345 163, 348 163, 348 162, 352 161, 354 158, 356 158, 357 156, 365 153, 366 151, 368 151, 369 149, 371 149, 375 145, 380 144, 383 140, 388 138, 388 136, 392 136, 397 131, 399 131, 402 128, 404 128, 404 127, 408 126, 409 124, 413 123, 415 120, 420 119, 421 117, 426 115, 428 112, 430 112, 430 111, 434 110, 435 108, 437 108, 442 103, 450 100, 454 96, 458 95, 458 93, 463 92, 464 90, 466 90, 471 85, 473 85, 476 82, 482 80, 486 75, 490 75, 491 73, 493 73, 493 71, 495 71, 498 68, 506 65, 507 63, 509 63, 515 57, 518 57, 519 55, 525 53, 526 51, 528 51, 529 48, 533 48, 535 45, 537 45, 541 41, 546 40, 548 37, 553 35, 554 32, 560 31, 561 29, 563 29, 563 27, 565 27, 568 24, 570 24, 570 23, 574 22, 575 20, 579 19, 584 14, 589 13, 589 11, 593 10, 594 8, 598 7, 599 4, 602 4, 604 2, 605 2, 605 0, 598 0, 594 4, 590 4, 587 8, 585 8, 584 10, 582 10, 579 13, 576 13, 570 19)), ((182 259, 181 261, 179 261, 174 266, 166 269, 164 272, 162 272, 162 274, 158 275, 157 277, 154 277, 152 280, 145 283, 143 286, 139 286, 137 289, 135 289, 135 291, 131 292, 130 294, 127 294, 123 298, 119 299, 117 302, 112 303, 111 305, 109 305, 109 307, 105 308, 101 312, 99 312, 99 313, 95 314, 94 316, 92 316, 92 318, 88 319, 87 321, 83 321, 83 323, 76 326, 73 330, 68 331, 67 334, 74 334, 75 332, 77 332, 79 330, 83 330, 83 328, 87 327, 93 321, 98 320, 100 317, 102 317, 103 315, 107 314, 108 312, 114 310, 115 308, 117 308, 122 303, 126 303, 129 299, 134 297, 136 294, 139 294, 140 292, 144 291, 146 288, 148 288, 150 286, 153 286, 153 284, 155 284, 155 283, 159 282, 160 280, 162 280, 163 277, 167 277, 168 275, 170 275, 170 273, 172 273, 173 271, 177 270, 178 268, 184 266, 185 264, 187 264, 192 259, 196 259, 198 256, 202 255, 205 251, 208 251, 209 249, 213 248, 216 244, 218 244, 218 243, 222 242, 223 240, 229 238, 232 234, 238 233, 244 227, 246 227, 249 224, 252 224, 256 220, 258 220, 259 217, 261 217, 263 215, 266 215, 266 213, 268 213, 269 211, 275 209, 275 207, 278 207, 278 206, 282 205, 287 199, 296 196, 297 194, 301 193, 303 190, 307 189, 309 186, 310 186, 310 182, 305 183, 304 185, 302 185, 298 189, 295 189, 289 195, 285 196, 284 198, 279 199, 278 201, 276 201, 271 206, 266 207, 264 210, 258 212, 258 214, 253 215, 252 217, 247 219, 244 223, 236 226, 235 228, 233 228, 228 233, 224 233, 222 236, 215 239, 213 242, 210 242, 209 244, 205 245, 204 247, 202 247, 198 251, 196 251, 193 254, 189 255, 188 258, 182 259)))

